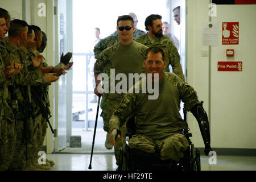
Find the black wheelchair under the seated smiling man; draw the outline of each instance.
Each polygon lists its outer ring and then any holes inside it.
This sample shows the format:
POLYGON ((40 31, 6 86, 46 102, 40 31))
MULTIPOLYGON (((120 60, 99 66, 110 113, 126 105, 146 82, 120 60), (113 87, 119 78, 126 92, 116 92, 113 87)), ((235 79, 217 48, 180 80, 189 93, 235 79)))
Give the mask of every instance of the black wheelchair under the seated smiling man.
MULTIPOLYGON (((128 123, 128 122, 127 122, 128 123)), ((134 123, 133 123, 134 125, 134 123)), ((127 126, 127 125, 126 125, 127 126)), ((130 127, 131 128, 131 127, 130 127)), ((123 148, 119 148, 119 164, 118 171, 201 171, 200 151, 195 148, 194 144, 189 139, 191 133, 183 134, 188 140, 189 147, 183 152, 184 157, 175 162, 173 160, 161 160, 160 152, 148 154, 139 151, 135 148, 129 148, 129 142, 123 148)), ((132 130, 127 126, 126 137, 132 137, 132 130)))

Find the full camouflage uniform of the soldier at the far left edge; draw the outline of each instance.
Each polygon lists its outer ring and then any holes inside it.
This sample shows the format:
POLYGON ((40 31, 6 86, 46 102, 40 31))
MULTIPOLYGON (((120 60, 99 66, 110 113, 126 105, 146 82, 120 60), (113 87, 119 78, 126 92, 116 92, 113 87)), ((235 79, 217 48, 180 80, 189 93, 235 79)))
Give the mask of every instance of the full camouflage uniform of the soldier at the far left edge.
POLYGON ((16 133, 14 127, 14 114, 7 103, 9 79, 7 80, 3 69, 6 68, 4 57, 7 56, 6 45, 0 40, 0 171, 7 170, 14 147, 16 133))

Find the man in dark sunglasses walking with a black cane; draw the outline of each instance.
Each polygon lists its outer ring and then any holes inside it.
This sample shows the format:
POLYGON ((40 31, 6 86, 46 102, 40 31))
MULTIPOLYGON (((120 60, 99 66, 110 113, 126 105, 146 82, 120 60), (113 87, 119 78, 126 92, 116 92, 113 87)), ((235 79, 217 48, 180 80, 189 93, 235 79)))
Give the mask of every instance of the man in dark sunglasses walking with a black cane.
MULTIPOLYGON (((129 73, 138 73, 143 72, 143 59, 146 53, 147 47, 141 43, 135 42, 133 40, 133 32, 135 31, 133 18, 129 15, 119 16, 117 20, 117 32, 119 36, 119 42, 115 43, 112 47, 105 49, 100 57, 97 58, 96 63, 94 64, 94 77, 96 82, 96 87, 94 88, 94 93, 98 96, 98 93, 103 93, 100 82, 101 77, 100 73, 106 73, 109 78, 109 85, 116 85, 115 80, 110 79, 111 70, 115 71, 116 76, 118 73, 124 73, 126 78, 128 78, 129 73), (112 83, 110 83, 112 82, 112 83)), ((103 80, 105 85, 106 80, 103 80)), ((127 84, 129 83, 127 79, 127 84)), ((110 88, 110 86, 109 86, 110 88)), ((127 90, 129 87, 127 86, 127 90)), ((112 115, 115 108, 119 105, 119 102, 122 100, 125 93, 114 93, 110 90, 106 92, 104 90, 101 101, 101 117, 104 121, 104 130, 107 132, 105 147, 112 149, 113 145, 108 143, 108 131, 109 131, 109 118, 112 115)), ((125 133, 126 128, 121 129, 121 133, 125 133)), ((117 149, 115 149, 115 158, 118 164, 119 156, 119 147, 122 147, 122 144, 125 143, 125 138, 119 139, 117 141, 117 149)))

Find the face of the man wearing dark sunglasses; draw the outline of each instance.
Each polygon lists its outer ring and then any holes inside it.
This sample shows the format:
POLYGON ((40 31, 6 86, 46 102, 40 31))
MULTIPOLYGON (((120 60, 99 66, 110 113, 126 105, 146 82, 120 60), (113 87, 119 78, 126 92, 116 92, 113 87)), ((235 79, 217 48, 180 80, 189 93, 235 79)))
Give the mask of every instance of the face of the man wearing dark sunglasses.
POLYGON ((117 32, 119 39, 123 42, 127 42, 129 40, 133 40, 133 32, 135 28, 132 25, 130 20, 121 20, 118 22, 117 32), (130 30, 123 29, 123 31, 119 30, 118 27, 131 27, 130 30))

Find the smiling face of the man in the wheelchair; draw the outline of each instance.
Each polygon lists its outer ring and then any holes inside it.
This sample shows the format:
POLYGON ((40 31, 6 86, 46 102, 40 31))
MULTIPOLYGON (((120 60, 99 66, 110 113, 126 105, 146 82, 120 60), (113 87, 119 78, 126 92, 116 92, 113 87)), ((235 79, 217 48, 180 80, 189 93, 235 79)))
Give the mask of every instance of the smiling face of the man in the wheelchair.
POLYGON ((162 53, 148 52, 146 60, 143 61, 143 68, 146 69, 146 73, 151 73, 152 78, 154 74, 159 74, 159 80, 163 77, 164 68, 166 68, 166 61, 163 60, 162 53))

